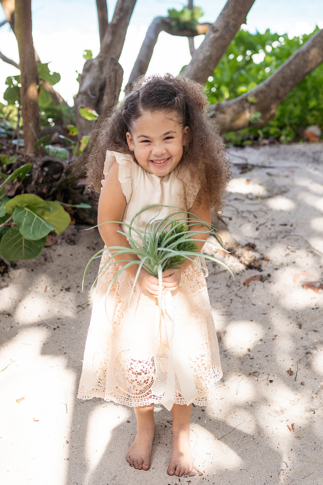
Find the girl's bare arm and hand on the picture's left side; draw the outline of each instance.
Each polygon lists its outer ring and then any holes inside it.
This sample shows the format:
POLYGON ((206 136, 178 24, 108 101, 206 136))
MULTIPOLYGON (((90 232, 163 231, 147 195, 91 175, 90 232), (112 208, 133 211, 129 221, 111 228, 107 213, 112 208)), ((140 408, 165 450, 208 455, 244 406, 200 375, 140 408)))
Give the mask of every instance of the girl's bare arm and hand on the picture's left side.
MULTIPOLYGON (((118 179, 119 165, 117 162, 113 162, 111 169, 106 178, 101 195, 99 198, 98 206, 98 229, 100 235, 105 242, 106 246, 123 246, 130 249, 130 245, 123 234, 117 232, 121 230, 120 224, 116 224, 108 221, 122 221, 123 214, 126 206, 126 198, 123 194, 121 183, 118 179), (107 223, 107 224, 102 224, 107 223), (101 224, 101 226, 100 226, 101 224)), ((113 255, 113 251, 111 251, 113 255)), ((120 266, 124 266, 128 261, 121 261, 121 259, 132 259, 139 261, 136 255, 126 253, 114 258, 119 262, 120 266)), ((138 264, 133 264, 125 271, 135 278, 138 270, 138 264)), ((138 285, 144 291, 148 291, 152 295, 158 295, 158 279, 150 275, 145 269, 141 269, 138 280, 138 285)))

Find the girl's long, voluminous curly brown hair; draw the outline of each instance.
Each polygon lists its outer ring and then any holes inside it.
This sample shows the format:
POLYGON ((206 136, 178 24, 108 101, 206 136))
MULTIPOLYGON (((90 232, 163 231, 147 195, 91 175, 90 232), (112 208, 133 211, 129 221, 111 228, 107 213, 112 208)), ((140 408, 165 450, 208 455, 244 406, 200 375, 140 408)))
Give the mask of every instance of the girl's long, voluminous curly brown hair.
POLYGON ((225 145, 216 121, 208 114, 208 106, 203 86, 195 81, 170 74, 139 78, 121 103, 111 110, 98 132, 87 165, 92 192, 100 194, 107 150, 134 156, 126 133, 131 132, 133 122, 143 112, 175 111, 179 123, 190 129, 178 167, 185 166, 191 181, 200 187, 197 202, 206 200, 214 213, 219 213, 231 172, 225 145))

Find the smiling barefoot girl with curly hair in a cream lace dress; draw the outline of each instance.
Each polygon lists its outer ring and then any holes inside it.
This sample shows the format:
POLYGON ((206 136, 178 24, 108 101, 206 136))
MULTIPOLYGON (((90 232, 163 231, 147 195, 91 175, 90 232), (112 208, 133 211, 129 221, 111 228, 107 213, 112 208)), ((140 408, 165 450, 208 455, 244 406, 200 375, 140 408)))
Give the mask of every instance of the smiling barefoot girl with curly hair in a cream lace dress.
MULTIPOLYGON (((106 246, 130 247, 117 232, 120 228, 127 232, 127 226, 102 223, 129 224, 139 210, 151 205, 172 208, 143 211, 137 218, 142 232, 154 213, 161 219, 174 212, 174 207, 208 223, 211 208, 218 213, 230 171, 207 105, 200 84, 170 75, 153 76, 139 80, 105 121, 90 157, 88 179, 100 194, 98 224, 106 246)), ((207 235, 196 237, 201 250, 207 235)), ((101 267, 108 258, 104 253, 101 267)), ((126 264, 123 258, 115 257, 119 263, 106 267, 97 281, 78 397, 100 397, 134 407, 137 435, 126 460, 131 467, 148 470, 154 404, 165 393, 170 342, 165 322, 159 323, 158 279, 145 269, 140 270, 130 304, 137 264, 118 276, 106 298, 109 282, 126 264)), ((131 254, 127 258, 137 259, 131 254)), ((196 387, 193 402, 210 404, 222 372, 204 275, 199 266, 186 260, 179 269, 163 272, 163 290, 173 296, 181 351, 196 387)), ((175 372, 168 473, 180 477, 195 474, 189 442, 191 402, 185 402, 182 394, 175 372)))

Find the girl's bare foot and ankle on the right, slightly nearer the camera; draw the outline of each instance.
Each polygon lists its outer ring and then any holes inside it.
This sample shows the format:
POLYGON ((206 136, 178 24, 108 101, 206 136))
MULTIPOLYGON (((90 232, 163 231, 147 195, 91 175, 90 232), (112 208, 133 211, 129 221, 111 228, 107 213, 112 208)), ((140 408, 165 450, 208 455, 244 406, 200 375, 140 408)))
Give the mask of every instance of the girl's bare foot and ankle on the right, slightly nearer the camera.
POLYGON ((169 475, 182 477, 183 475, 194 476, 193 455, 189 442, 189 426, 175 428, 173 425, 173 452, 168 467, 169 475))

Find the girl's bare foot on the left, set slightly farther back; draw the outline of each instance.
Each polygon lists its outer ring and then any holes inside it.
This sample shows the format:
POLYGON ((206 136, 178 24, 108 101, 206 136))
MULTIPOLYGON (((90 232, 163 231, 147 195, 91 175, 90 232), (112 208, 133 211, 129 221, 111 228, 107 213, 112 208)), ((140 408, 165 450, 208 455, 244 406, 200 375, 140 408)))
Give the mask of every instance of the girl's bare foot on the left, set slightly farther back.
POLYGON ((154 427, 149 426, 143 429, 137 429, 137 435, 126 455, 126 460, 130 467, 135 467, 138 470, 150 469, 153 439, 154 427))

